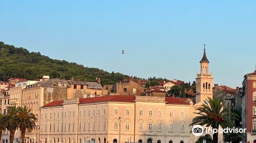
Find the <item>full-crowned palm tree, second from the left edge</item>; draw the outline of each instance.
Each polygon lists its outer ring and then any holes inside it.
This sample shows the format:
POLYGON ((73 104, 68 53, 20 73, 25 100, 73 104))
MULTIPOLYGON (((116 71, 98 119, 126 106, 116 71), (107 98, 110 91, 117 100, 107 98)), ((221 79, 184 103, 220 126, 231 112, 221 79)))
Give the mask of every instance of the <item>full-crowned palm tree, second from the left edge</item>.
POLYGON ((17 114, 12 118, 11 124, 20 129, 22 133, 22 143, 25 142, 26 130, 32 131, 36 121, 37 118, 35 114, 33 114, 31 109, 28 109, 27 106, 17 108, 17 114))

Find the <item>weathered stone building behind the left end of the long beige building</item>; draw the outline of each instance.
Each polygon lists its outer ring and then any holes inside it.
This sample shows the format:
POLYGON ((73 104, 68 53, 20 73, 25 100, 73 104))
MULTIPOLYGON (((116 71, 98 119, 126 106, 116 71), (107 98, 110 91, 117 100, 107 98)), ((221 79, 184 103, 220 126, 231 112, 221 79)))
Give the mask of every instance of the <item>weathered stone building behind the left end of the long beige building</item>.
POLYGON ((38 118, 35 129, 32 132, 26 133, 25 137, 27 142, 32 143, 38 142, 39 140, 39 107, 53 101, 67 99, 68 86, 69 82, 67 80, 43 78, 42 81, 27 85, 26 88, 22 89, 21 105, 31 108, 38 118))

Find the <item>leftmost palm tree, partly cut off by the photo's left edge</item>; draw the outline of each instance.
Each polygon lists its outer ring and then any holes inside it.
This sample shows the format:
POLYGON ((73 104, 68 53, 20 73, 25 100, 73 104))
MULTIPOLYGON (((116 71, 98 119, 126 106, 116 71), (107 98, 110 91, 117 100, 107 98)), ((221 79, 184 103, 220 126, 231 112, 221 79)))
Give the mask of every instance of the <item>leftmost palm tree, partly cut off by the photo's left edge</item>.
POLYGON ((10 131, 10 143, 14 140, 14 134, 16 127, 11 124, 11 120, 14 117, 14 115, 17 114, 17 108, 16 106, 8 106, 7 108, 7 114, 5 114, 1 120, 1 125, 4 129, 7 129, 10 131))

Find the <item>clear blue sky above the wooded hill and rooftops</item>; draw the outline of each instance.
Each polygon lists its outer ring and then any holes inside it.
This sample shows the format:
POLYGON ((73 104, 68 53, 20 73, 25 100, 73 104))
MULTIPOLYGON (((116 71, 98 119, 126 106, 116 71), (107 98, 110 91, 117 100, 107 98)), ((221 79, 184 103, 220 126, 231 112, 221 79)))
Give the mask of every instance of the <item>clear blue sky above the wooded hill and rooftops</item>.
POLYGON ((3 1, 0 41, 141 78, 242 86, 256 64, 256 1, 3 1), (124 50, 124 55, 121 51, 124 50))

